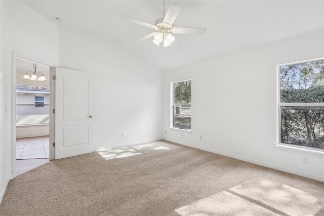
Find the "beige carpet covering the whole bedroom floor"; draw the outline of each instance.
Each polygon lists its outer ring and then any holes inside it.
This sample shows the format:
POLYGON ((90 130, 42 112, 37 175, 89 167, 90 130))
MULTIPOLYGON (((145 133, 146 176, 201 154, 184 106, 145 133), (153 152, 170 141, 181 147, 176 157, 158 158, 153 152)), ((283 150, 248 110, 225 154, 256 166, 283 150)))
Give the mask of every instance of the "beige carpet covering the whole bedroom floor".
POLYGON ((324 215, 324 183, 167 141, 50 161, 0 215, 324 215))

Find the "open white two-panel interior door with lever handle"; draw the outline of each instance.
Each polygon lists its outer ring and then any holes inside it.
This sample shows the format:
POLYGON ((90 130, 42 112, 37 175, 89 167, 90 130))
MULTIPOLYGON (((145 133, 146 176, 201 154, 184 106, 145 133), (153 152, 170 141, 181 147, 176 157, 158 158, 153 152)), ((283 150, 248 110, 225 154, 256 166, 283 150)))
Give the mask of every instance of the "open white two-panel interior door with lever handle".
POLYGON ((91 74, 56 68, 55 159, 93 152, 91 74))

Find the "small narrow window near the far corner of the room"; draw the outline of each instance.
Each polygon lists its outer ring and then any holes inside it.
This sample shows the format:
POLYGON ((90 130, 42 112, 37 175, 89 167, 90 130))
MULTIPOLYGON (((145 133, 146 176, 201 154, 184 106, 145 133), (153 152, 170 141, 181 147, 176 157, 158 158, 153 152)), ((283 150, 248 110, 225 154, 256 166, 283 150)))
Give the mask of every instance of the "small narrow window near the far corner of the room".
POLYGON ((191 80, 171 83, 172 127, 191 130, 191 80))

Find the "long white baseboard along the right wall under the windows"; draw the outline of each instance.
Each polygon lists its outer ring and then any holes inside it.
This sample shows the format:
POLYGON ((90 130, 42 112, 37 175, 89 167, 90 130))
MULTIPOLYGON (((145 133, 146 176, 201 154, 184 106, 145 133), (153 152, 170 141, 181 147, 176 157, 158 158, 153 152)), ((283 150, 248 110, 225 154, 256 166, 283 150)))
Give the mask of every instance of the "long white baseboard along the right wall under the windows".
POLYGON ((226 157, 229 157, 229 158, 235 158, 237 160, 246 161, 246 162, 257 164, 257 165, 260 165, 260 166, 265 166, 265 167, 269 167, 269 168, 272 168, 272 169, 277 169, 277 170, 280 170, 280 171, 300 175, 300 176, 311 178, 311 179, 314 179, 314 180, 317 180, 317 181, 320 181, 320 182, 324 182, 324 176, 313 175, 313 174, 301 172, 301 171, 294 170, 294 169, 287 169, 285 167, 280 167, 280 166, 264 163, 264 162, 261 162, 261 161, 252 160, 252 159, 249 159, 249 158, 244 158, 244 157, 240 157, 240 156, 237 156, 237 155, 228 154, 228 153, 225 153, 225 152, 215 151, 215 150, 212 150, 212 149, 191 145, 191 144, 186 143, 186 142, 179 142, 177 140, 172 140, 172 139, 167 139, 167 138, 164 138, 164 140, 175 142, 175 143, 183 145, 183 146, 188 146, 188 147, 192 147, 192 148, 195 148, 195 149, 200 149, 200 150, 204 150, 204 151, 207 151, 207 152, 215 153, 215 154, 218 154, 218 155, 223 155, 223 156, 226 156, 226 157))

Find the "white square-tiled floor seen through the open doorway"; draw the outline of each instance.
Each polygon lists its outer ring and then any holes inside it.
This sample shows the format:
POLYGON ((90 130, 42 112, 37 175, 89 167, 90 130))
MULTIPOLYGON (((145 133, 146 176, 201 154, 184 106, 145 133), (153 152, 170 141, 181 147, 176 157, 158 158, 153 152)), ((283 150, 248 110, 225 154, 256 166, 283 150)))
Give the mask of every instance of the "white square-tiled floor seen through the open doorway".
POLYGON ((16 159, 49 158, 49 152, 49 136, 20 138, 16 140, 16 159))

